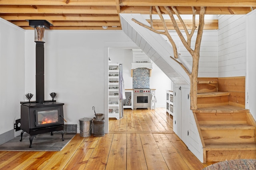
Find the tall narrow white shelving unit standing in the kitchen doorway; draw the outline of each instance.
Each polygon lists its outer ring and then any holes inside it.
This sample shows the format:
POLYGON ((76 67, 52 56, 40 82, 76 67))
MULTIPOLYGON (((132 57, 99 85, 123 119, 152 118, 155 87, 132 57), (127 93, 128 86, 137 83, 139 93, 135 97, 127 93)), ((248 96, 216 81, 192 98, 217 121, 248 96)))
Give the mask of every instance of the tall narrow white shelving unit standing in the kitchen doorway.
POLYGON ((119 64, 108 64, 108 117, 120 119, 119 115, 119 64))

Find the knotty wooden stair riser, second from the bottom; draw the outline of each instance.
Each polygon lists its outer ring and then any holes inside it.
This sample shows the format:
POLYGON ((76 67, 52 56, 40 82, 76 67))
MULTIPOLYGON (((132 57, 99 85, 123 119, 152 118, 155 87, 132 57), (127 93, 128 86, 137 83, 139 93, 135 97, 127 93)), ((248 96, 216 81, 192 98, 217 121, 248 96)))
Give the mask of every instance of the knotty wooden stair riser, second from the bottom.
POLYGON ((210 142, 254 142, 254 129, 241 130, 202 130, 203 139, 210 142))

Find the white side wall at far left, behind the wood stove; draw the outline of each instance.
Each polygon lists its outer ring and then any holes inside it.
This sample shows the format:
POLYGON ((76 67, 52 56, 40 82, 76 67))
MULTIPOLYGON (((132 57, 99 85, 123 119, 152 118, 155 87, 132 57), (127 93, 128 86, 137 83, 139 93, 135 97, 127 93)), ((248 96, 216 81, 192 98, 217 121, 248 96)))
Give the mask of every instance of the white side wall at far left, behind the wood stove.
POLYGON ((20 119, 24 88, 24 30, 0 18, 0 134, 20 119))

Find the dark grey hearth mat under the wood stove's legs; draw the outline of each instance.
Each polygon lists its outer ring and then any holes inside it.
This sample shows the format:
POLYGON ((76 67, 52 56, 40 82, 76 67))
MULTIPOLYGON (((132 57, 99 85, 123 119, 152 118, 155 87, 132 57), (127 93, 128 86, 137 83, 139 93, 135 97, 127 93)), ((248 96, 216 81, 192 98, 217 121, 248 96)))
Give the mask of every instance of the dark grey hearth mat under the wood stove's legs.
POLYGON ((32 141, 32 148, 29 148, 29 135, 23 134, 22 141, 20 136, 0 145, 0 151, 60 151, 68 142, 76 135, 76 133, 64 133, 64 141, 62 141, 61 133, 44 133, 36 135, 32 141))

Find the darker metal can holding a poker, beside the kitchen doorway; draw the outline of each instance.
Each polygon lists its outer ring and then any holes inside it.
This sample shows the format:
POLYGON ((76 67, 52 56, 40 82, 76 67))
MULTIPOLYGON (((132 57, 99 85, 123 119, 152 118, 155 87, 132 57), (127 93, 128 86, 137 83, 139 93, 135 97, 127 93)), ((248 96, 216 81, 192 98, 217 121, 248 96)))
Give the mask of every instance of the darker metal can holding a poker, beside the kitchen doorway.
POLYGON ((96 137, 105 135, 105 116, 104 114, 95 114, 93 118, 93 135, 96 137))

